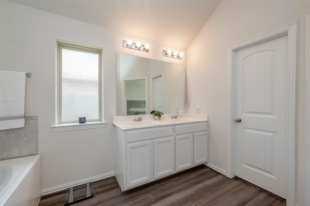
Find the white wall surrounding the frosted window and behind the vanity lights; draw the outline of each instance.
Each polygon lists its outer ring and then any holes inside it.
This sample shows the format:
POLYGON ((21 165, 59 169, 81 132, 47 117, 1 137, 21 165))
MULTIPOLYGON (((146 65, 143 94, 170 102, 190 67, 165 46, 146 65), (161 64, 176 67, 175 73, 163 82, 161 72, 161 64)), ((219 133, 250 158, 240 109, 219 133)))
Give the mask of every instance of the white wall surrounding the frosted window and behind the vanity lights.
POLYGON ((109 105, 117 102, 116 53, 185 65, 186 58, 163 57, 162 50, 185 51, 8 1, 1 0, 0 7, 0 69, 32 73, 26 83, 25 115, 38 115, 43 192, 113 173, 115 142, 109 105), (56 39, 103 48, 106 128, 52 132, 56 122, 56 39), (127 39, 150 44, 150 52, 124 48, 127 39))

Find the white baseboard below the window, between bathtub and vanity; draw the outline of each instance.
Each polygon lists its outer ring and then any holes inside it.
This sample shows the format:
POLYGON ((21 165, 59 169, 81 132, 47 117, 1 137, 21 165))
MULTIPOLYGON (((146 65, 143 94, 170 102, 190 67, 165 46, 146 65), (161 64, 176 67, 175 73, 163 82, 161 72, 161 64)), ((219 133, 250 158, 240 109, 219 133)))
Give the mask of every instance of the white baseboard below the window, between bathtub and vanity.
POLYGON ((106 173, 106 174, 98 175, 98 176, 95 176, 95 177, 90 177, 90 178, 87 178, 87 179, 82 179, 82 180, 79 180, 79 181, 76 181, 76 182, 71 182, 71 183, 60 185, 60 186, 57 186, 57 187, 48 188, 48 189, 45 189, 45 190, 41 191, 41 196, 42 195, 47 195, 47 194, 50 194, 50 193, 54 193, 54 192, 57 192, 57 191, 66 190, 67 188, 70 188, 70 187, 73 187, 73 186, 85 184, 85 183, 92 182, 92 181, 98 181, 98 180, 105 179, 105 178, 108 178, 108 177, 113 177, 113 176, 114 176, 114 172, 109 172, 109 173, 106 173))

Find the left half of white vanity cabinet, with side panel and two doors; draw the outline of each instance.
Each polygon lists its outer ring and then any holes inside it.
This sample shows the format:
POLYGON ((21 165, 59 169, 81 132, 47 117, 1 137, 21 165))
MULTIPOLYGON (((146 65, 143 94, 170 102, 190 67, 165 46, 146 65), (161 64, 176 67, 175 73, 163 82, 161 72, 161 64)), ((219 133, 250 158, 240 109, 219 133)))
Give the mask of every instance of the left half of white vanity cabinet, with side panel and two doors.
POLYGON ((117 128, 115 177, 122 191, 174 173, 174 128, 117 128))

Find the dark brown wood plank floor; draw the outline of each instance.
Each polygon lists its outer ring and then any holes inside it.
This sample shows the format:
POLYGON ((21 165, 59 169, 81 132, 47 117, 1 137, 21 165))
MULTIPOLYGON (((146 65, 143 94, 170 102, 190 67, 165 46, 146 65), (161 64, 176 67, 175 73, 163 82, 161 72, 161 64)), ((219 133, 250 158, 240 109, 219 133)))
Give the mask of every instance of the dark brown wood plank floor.
MULTIPOLYGON (((202 165, 122 193, 115 177, 93 182, 94 197, 72 206, 285 206, 282 200, 238 178, 202 165)), ((39 206, 63 206, 65 191, 41 197, 39 206)))

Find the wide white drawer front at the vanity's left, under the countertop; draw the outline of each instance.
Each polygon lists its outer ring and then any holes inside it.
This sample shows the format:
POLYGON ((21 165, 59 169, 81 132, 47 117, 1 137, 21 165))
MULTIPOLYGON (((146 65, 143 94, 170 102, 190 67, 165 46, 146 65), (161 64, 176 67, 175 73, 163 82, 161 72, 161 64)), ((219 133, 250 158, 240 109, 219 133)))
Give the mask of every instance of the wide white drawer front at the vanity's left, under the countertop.
POLYGON ((135 142, 158 137, 172 136, 173 127, 155 127, 126 132, 127 142, 135 142))

